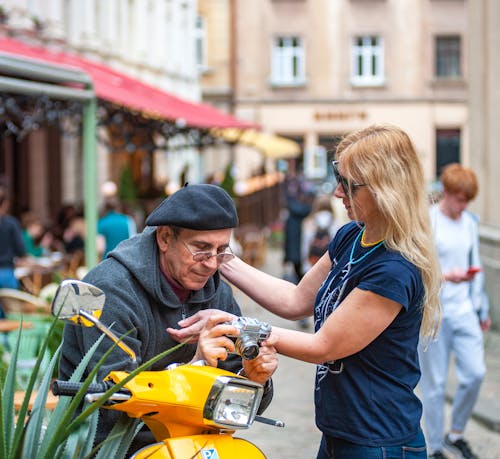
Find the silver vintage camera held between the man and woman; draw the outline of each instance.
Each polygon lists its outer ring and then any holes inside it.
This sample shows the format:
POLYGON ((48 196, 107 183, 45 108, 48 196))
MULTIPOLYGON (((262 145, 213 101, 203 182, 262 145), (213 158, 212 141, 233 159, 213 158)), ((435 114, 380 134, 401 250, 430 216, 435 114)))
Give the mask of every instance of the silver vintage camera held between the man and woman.
POLYGON ((245 360, 255 359, 259 355, 259 347, 262 341, 269 338, 271 325, 251 317, 238 317, 232 322, 227 322, 238 328, 238 336, 227 335, 234 341, 235 352, 245 360))

